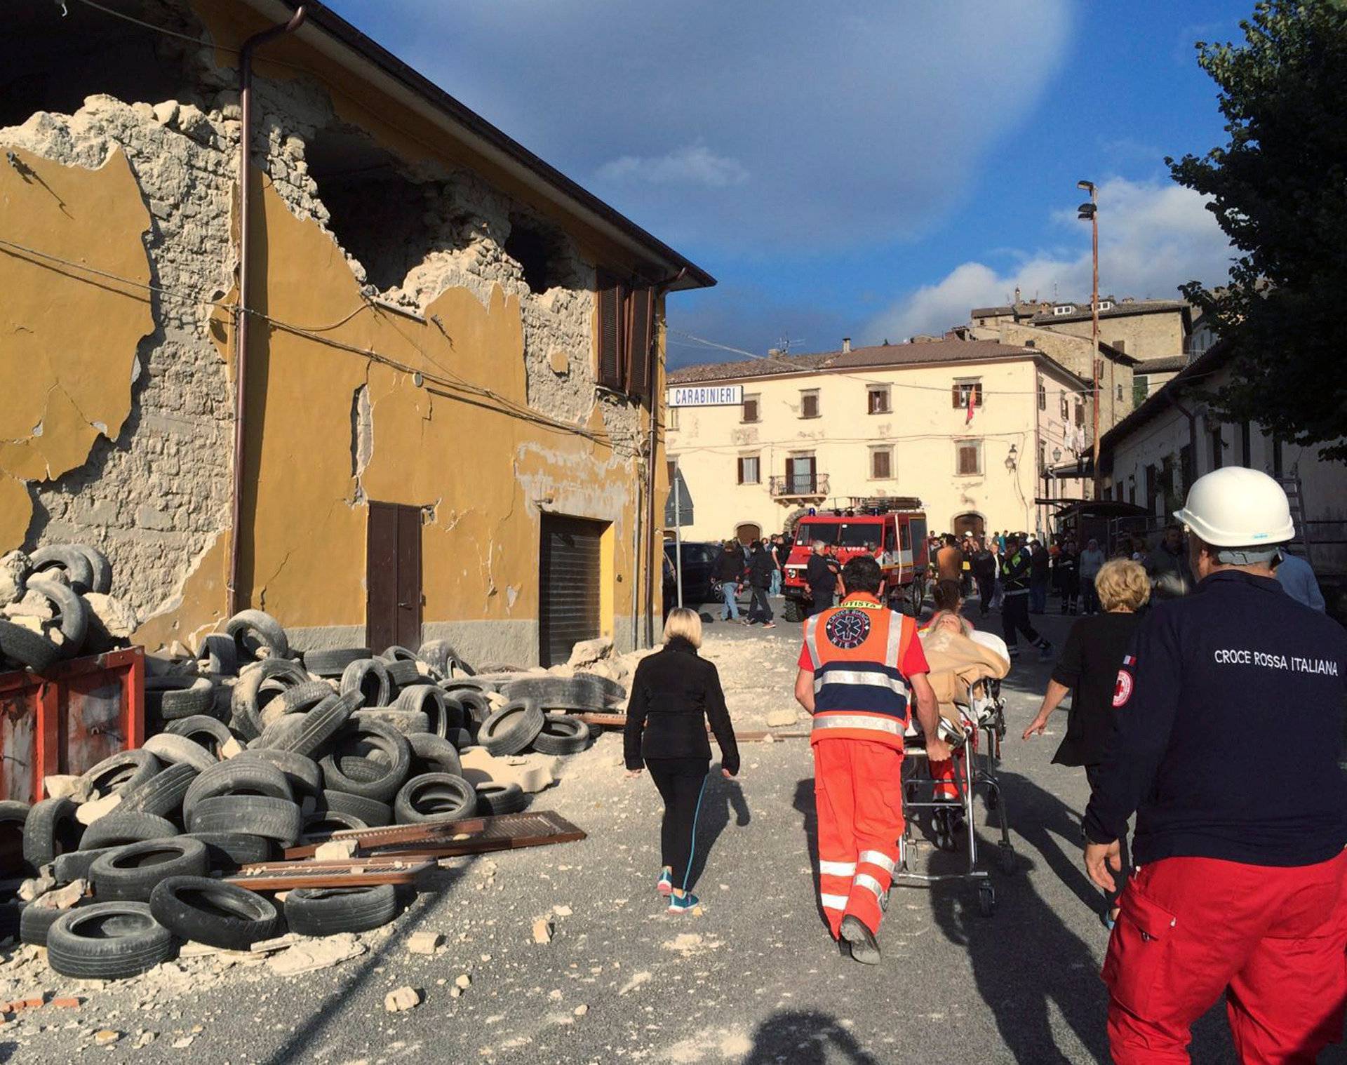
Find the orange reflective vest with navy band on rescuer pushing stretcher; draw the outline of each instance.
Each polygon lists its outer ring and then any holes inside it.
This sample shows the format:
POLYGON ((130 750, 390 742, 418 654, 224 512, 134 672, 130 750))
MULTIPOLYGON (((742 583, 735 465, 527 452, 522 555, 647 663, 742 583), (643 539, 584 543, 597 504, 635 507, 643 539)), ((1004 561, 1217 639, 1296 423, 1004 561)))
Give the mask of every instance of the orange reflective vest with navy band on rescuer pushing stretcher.
POLYGON ((847 599, 804 625, 814 666, 814 728, 820 739, 867 739, 902 749, 908 680, 898 669, 916 622, 869 599, 847 599))

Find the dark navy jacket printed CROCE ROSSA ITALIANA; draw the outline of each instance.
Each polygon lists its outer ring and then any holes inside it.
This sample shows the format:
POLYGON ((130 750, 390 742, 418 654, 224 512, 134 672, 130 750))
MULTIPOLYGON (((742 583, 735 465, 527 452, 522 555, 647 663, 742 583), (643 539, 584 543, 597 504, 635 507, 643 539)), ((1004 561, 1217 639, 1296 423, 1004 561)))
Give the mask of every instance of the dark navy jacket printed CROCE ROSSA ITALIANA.
POLYGON ((1347 634, 1276 578, 1218 571, 1157 603, 1122 661, 1086 835, 1133 856, 1311 866, 1347 843, 1347 634))

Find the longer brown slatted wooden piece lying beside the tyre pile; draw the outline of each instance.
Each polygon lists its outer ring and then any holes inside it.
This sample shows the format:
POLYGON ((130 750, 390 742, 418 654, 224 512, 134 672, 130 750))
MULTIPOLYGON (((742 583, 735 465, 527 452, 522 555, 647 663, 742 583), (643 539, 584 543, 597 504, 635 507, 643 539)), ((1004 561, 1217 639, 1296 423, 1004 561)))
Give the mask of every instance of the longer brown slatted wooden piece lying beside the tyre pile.
MULTIPOLYGON (((502 813, 497 817, 469 817, 461 821, 426 821, 387 828, 348 828, 331 839, 356 841, 361 855, 391 860, 397 856, 434 854, 439 858, 574 843, 586 833, 552 811, 502 813)), ((317 843, 286 850, 286 858, 307 858, 317 843)))

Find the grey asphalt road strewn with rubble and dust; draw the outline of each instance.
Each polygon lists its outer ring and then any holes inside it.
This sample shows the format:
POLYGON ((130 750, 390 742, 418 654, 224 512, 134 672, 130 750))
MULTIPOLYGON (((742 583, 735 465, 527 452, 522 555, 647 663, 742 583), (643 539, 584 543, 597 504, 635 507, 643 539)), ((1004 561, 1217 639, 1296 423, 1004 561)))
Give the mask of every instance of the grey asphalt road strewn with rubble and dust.
MULTIPOLYGON (((1048 617, 1043 627, 1060 642, 1065 626, 1048 617)), ((796 625, 714 625, 707 638, 757 641, 770 665, 799 653, 796 625)), ((141 982, 109 987, 89 994, 73 1027, 59 1017, 42 1030, 0 1029, 0 1060, 1107 1061, 1098 977, 1106 932, 1079 860, 1084 776, 1049 765, 1056 738, 1018 738, 1047 672, 1029 656, 1005 688, 1012 734, 999 776, 1018 868, 993 868, 995 916, 982 917, 962 883, 896 889, 876 968, 841 956, 819 916, 804 741, 745 745, 738 781, 713 774, 698 825, 703 913, 671 916, 653 890, 659 798, 648 778, 622 777, 620 738, 607 735, 535 800, 585 828, 586 840, 458 862, 388 938, 337 968, 290 979, 265 967, 232 971, 178 995, 141 982), (554 907, 554 938, 535 944, 533 920, 554 907), (416 930, 443 933, 446 947, 408 955, 416 930), (465 972, 471 987, 451 998, 465 972), (385 1012, 384 995, 403 984, 424 1002, 385 1012), (125 1035, 93 1046, 104 1026, 125 1035), (141 1030, 156 1038, 132 1049, 141 1030), (186 1034, 190 1049, 174 1049, 186 1034)), ((727 687, 740 680, 725 677, 727 687)), ((777 706, 789 700, 783 691, 777 706)), ((1234 1060, 1220 1008, 1196 1027, 1193 1060, 1234 1060)))

